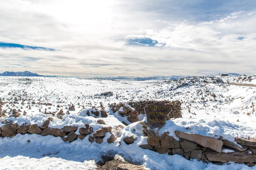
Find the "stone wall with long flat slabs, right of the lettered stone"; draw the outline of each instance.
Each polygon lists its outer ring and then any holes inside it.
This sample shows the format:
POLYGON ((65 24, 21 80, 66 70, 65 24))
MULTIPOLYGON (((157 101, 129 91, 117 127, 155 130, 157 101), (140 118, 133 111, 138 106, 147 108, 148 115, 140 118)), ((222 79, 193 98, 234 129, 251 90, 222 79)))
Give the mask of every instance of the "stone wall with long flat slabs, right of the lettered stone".
POLYGON ((148 138, 148 144, 140 145, 143 149, 149 149, 160 154, 169 155, 179 154, 186 159, 197 159, 205 163, 224 164, 228 161, 244 163, 248 166, 256 164, 256 140, 236 138, 235 141, 242 147, 223 140, 201 136, 198 134, 175 131, 179 142, 169 132, 162 135, 154 131, 154 128, 148 127, 148 124, 141 122, 144 135, 148 138), (231 149, 234 152, 224 153, 222 150, 231 149))

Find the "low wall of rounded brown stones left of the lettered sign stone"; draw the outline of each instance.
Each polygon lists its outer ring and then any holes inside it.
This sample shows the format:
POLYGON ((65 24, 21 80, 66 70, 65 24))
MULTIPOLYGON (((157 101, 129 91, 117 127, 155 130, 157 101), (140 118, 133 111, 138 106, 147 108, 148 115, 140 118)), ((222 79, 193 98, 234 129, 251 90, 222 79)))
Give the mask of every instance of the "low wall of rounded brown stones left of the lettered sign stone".
MULTIPOLYGON (((81 127, 79 129, 79 134, 76 134, 76 130, 78 130, 78 126, 64 126, 61 129, 58 128, 50 128, 48 127, 49 121, 51 119, 46 120, 43 125, 21 125, 19 126, 17 123, 10 123, 0 128, 0 137, 13 137, 18 133, 25 134, 41 134, 42 136, 52 135, 55 137, 61 137, 65 142, 73 142, 75 140, 84 139, 85 136, 89 136, 89 141, 101 144, 105 134, 107 132, 112 133, 112 127, 102 127, 96 131, 93 131, 93 127, 90 127, 89 124, 85 124, 85 127, 81 127)), ((99 124, 105 124, 105 122, 101 119, 97 121, 99 124)), ((122 127, 122 126, 119 126, 122 127)), ((123 128, 123 127, 122 127, 123 128)), ((116 137, 111 134, 110 138, 108 138, 108 143, 113 143, 116 140, 116 137)))

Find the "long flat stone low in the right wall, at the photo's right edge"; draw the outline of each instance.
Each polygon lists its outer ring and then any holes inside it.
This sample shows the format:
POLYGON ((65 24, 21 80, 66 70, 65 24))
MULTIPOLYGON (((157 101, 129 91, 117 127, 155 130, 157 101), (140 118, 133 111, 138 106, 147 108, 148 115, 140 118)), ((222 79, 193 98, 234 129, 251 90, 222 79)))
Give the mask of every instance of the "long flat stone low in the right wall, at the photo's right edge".
POLYGON ((219 162, 256 162, 256 156, 253 154, 248 154, 247 152, 230 152, 230 153, 218 153, 215 151, 207 150, 204 152, 209 161, 219 161, 219 162))

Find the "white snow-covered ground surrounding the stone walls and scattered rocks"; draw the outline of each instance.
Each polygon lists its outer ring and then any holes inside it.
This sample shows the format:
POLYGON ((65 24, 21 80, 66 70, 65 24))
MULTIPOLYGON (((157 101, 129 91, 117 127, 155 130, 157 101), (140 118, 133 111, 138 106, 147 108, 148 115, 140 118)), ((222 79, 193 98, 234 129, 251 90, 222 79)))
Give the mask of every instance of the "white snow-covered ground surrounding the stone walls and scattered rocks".
MULTIPOLYGON (((248 78, 233 78, 239 83, 253 84, 255 76, 248 78)), ((256 83, 255 83, 256 84, 256 83)), ((65 125, 90 124, 93 130, 102 126, 113 127, 117 137, 114 143, 90 143, 88 136, 83 140, 64 142, 60 137, 41 136, 36 134, 17 134, 13 138, 3 138, 0 141, 0 169, 96 169, 96 162, 104 153, 118 154, 125 160, 143 164, 152 170, 167 169, 256 169, 244 164, 205 164, 202 161, 186 160, 182 156, 159 154, 144 150, 140 144, 146 144, 142 126, 139 122, 131 124, 119 113, 113 113, 109 104, 113 102, 128 102, 140 100, 180 100, 182 116, 166 122, 159 132, 170 132, 175 136, 175 130, 198 133, 205 136, 222 136, 231 142, 235 137, 248 136, 256 138, 256 87, 222 85, 219 79, 212 77, 189 77, 171 81, 115 81, 102 79, 79 79, 62 77, 0 77, 0 98, 4 103, 2 111, 6 115, 0 117, 0 127, 3 121, 13 121, 22 125, 25 122, 41 125, 48 117, 54 117, 49 127, 61 128, 65 125), (111 91, 113 95, 103 95, 111 91), (17 101, 15 101, 16 99, 17 101), (23 102, 22 102, 23 101, 23 102), (10 103, 13 102, 13 103, 10 103), (51 105, 38 105, 38 103, 51 105), (108 113, 103 119, 106 125, 97 124, 97 119, 79 113, 83 108, 100 109, 100 102, 108 113), (69 111, 70 105, 76 111, 69 111), (29 106, 31 109, 29 109, 29 106), (28 106, 28 107, 27 107, 28 106), (9 117, 11 109, 21 113, 18 118, 9 117), (63 109, 63 119, 55 115, 63 109), (26 115, 23 115, 26 111, 26 115), (79 114, 78 114, 79 113, 79 114), (122 121, 131 124, 122 129, 122 121), (137 136, 134 144, 127 145, 123 138, 129 135, 137 136), (27 141, 30 142, 27 142, 27 141)), ((139 119, 145 119, 144 114, 139 119)), ((110 136, 108 133, 107 135, 110 136)), ((178 139, 178 138, 177 138, 178 139)), ((225 150, 227 151, 227 150, 225 150)))

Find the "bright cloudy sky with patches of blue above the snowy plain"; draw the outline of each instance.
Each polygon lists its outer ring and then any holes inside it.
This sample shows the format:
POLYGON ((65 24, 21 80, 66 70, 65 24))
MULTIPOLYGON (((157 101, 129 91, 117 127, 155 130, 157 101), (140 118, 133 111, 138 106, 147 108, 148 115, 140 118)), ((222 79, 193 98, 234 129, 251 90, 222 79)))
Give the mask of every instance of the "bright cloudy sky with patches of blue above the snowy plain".
POLYGON ((0 1, 0 73, 256 74, 256 0, 0 1))

